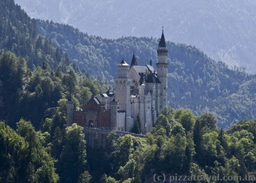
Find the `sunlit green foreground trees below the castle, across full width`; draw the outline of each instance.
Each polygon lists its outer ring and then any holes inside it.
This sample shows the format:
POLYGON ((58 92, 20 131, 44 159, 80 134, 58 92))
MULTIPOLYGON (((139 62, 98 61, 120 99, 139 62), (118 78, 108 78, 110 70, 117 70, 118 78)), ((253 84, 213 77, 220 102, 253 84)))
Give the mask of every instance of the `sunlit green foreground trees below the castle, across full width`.
POLYGON ((165 108, 144 138, 118 138, 113 131, 106 149, 91 149, 82 127, 65 128, 63 104, 39 131, 24 120, 16 131, 0 122, 0 181, 148 183, 163 173, 200 177, 197 182, 217 180, 210 176, 255 181, 255 120, 223 131, 209 113, 195 117, 189 110, 165 108))

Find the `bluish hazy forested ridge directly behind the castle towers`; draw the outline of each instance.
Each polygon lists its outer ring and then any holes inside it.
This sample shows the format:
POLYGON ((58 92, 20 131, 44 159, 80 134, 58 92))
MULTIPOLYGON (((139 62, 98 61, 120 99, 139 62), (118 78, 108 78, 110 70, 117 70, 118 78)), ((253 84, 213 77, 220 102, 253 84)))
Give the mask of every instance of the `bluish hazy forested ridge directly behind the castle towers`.
MULTIPOLYGON (((37 20, 38 32, 69 53, 71 60, 88 75, 113 81, 116 64, 131 62, 133 51, 138 64, 157 61, 158 39, 122 37, 103 39, 79 32, 68 25, 37 20)), ((160 36, 160 34, 159 34, 160 36)), ((168 102, 174 108, 190 108, 197 115, 215 113, 218 125, 226 128, 242 119, 254 119, 256 79, 223 62, 215 62, 202 51, 186 44, 167 41, 169 50, 168 102)))

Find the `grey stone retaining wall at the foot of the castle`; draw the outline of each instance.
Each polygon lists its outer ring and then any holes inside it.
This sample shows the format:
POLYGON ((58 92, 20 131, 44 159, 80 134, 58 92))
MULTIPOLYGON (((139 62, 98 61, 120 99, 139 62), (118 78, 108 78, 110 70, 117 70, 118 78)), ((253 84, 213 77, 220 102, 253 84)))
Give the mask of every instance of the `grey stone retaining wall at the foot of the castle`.
MULTIPOLYGON (((86 135, 86 143, 91 148, 105 149, 106 147, 106 136, 112 132, 112 130, 99 129, 99 128, 89 128, 84 127, 84 133, 86 135)), ((136 137, 144 138, 142 134, 135 134, 126 131, 115 131, 117 136, 124 136, 126 134, 131 134, 136 137)))

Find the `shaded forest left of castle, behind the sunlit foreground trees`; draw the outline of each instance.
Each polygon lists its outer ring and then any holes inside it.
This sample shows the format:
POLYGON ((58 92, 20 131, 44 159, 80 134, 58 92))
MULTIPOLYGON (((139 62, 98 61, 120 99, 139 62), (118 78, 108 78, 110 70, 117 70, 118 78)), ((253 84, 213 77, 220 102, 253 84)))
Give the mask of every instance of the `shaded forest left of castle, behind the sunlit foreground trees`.
MULTIPOLYGON (((26 60, 11 52, 0 55, 0 73, 3 84, 0 119, 13 128, 20 118, 24 118, 38 129, 41 121, 53 115, 60 99, 62 102, 72 99, 75 106, 81 106, 92 95, 107 89, 106 83, 81 76, 72 67, 65 73, 45 65, 30 71, 26 60)), ((65 116, 66 112, 60 118, 65 116)))

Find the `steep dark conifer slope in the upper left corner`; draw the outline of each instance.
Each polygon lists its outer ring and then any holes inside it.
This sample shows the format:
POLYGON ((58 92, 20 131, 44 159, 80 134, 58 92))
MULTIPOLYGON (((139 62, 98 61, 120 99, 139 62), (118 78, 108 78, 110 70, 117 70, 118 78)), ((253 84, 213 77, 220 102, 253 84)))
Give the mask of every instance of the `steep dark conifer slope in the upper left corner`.
POLYGON ((37 33, 35 20, 14 1, 0 2, 0 35, 0 54, 11 51, 25 57, 29 68, 41 66, 43 62, 56 68, 69 62, 67 55, 37 33))

